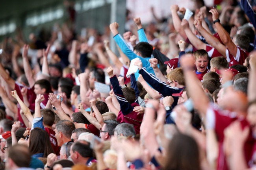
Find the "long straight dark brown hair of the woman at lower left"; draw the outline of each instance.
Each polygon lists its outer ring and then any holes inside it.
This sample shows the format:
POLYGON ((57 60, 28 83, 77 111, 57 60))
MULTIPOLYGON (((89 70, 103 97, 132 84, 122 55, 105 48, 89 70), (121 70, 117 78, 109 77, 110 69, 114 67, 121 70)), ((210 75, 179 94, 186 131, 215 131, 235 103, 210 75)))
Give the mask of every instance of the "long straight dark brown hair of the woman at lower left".
POLYGON ((34 128, 31 131, 29 135, 28 149, 32 155, 44 153, 43 157, 47 157, 50 153, 54 153, 48 133, 41 128, 34 128))

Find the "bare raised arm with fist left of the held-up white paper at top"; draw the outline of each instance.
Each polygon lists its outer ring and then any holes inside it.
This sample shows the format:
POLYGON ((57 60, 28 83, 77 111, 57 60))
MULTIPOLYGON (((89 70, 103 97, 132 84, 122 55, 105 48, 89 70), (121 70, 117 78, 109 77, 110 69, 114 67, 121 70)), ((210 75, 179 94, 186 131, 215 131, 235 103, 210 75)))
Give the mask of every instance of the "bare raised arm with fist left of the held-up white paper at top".
POLYGON ((184 40, 187 39, 187 35, 184 31, 184 29, 181 26, 181 21, 180 17, 178 16, 177 12, 179 10, 178 5, 171 5, 171 13, 172 13, 172 18, 173 18, 173 26, 175 30, 181 35, 184 40))

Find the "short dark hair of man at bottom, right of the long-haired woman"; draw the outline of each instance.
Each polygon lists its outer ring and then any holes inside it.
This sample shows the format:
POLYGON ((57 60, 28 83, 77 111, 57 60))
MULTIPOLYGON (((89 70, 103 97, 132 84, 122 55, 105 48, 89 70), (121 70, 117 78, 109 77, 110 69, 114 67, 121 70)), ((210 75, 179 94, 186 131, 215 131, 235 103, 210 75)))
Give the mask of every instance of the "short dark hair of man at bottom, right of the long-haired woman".
POLYGON ((72 151, 78 152, 82 157, 93 157, 93 150, 90 148, 90 144, 85 144, 80 141, 76 141, 72 145, 72 151))

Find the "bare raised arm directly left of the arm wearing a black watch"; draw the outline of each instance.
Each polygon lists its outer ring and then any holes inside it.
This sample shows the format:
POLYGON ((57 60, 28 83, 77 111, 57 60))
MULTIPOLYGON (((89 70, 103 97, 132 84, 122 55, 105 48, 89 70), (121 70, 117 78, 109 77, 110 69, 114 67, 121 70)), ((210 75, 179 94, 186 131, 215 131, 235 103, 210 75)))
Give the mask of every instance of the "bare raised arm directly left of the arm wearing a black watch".
POLYGON ((221 44, 221 42, 219 42, 219 40, 216 37, 211 35, 208 31, 206 31, 206 29, 204 29, 204 27, 202 27, 202 22, 197 19, 195 20, 194 25, 197 28, 197 30, 200 32, 200 34, 205 38, 205 40, 211 46, 217 49, 219 53, 223 55, 223 57, 226 58, 226 47, 223 44, 221 44))

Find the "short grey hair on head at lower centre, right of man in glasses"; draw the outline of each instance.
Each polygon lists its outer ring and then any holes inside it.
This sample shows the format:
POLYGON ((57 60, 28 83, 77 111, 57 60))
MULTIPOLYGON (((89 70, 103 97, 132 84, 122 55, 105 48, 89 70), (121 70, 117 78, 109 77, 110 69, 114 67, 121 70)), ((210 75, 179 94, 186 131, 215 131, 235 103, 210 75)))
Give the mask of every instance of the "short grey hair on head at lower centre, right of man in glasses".
POLYGON ((123 136, 130 136, 130 135, 136 135, 134 125, 129 123, 121 123, 115 127, 115 133, 117 136, 120 136, 121 134, 123 136))

